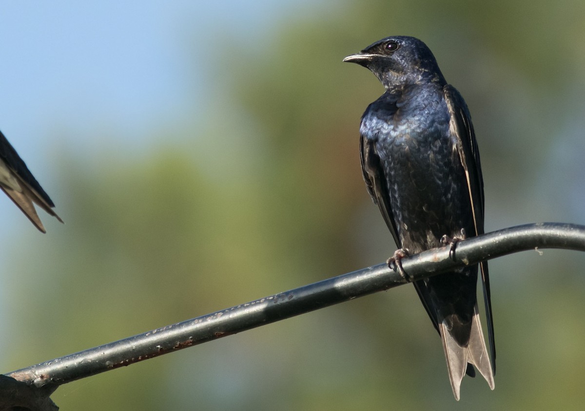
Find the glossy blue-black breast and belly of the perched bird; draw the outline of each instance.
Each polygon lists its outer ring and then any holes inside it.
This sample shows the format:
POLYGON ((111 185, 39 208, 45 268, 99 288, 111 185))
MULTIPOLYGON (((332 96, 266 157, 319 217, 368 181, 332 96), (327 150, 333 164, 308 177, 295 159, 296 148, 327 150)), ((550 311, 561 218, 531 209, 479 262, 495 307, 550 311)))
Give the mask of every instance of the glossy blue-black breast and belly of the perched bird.
MULTIPOLYGON (((445 106, 398 109, 371 133, 402 246, 436 247, 443 234, 469 230, 469 196, 445 106)), ((366 137, 367 138, 367 137, 366 137)), ((420 248, 416 250, 416 248, 420 248)))

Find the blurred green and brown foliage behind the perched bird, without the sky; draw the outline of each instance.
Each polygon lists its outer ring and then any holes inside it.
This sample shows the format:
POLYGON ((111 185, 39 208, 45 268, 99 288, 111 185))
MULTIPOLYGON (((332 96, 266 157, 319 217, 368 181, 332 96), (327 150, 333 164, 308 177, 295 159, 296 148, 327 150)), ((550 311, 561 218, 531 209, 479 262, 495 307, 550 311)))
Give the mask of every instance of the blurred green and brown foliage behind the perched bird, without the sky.
MULTIPOLYGON (((47 236, 12 246, 18 344, 5 371, 387 258, 395 246, 358 152, 360 115, 383 89, 341 60, 390 34, 423 39, 466 98, 487 230, 583 223, 583 157, 569 156, 584 148, 583 2, 318 10, 274 24, 253 51, 216 33, 214 95, 204 123, 173 130, 183 146, 161 135, 140 157, 104 147, 93 163, 62 150, 56 202, 67 225, 48 222, 47 236)), ((411 287, 73 382, 52 398, 63 410, 574 409, 585 400, 584 263, 549 250, 491 263, 496 388, 466 378, 459 403, 411 287)))

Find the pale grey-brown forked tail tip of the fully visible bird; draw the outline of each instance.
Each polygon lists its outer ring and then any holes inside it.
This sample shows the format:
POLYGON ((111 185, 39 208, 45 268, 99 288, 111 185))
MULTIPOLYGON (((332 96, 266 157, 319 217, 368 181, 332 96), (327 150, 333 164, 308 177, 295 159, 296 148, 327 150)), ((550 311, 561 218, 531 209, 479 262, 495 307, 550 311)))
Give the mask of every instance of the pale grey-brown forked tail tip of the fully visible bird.
POLYGON ((477 304, 473 309, 469 343, 466 346, 460 346, 457 343, 444 323, 439 324, 439 333, 443 342, 443 350, 445 351, 445 359, 449 371, 449 381, 451 382, 455 399, 459 401, 461 381, 465 375, 467 363, 474 365, 477 371, 486 379, 490 388, 494 389, 494 374, 491 368, 490 356, 487 354, 483 332, 481 331, 477 304))

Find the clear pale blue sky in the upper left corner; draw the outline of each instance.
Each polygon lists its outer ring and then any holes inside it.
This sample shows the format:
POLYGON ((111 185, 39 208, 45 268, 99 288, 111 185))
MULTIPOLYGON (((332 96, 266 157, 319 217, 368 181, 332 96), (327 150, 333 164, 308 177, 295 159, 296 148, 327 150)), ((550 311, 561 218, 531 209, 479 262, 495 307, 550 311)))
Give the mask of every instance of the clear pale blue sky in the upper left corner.
POLYGON ((47 151, 66 145, 84 156, 102 142, 72 134, 91 135, 105 125, 123 133, 116 143, 130 155, 148 146, 152 141, 143 139, 152 138, 153 127, 204 112, 213 87, 209 64, 198 62, 208 63, 215 40, 233 38, 253 52, 269 44, 266 34, 283 16, 317 7, 308 1, 2 2, 0 129, 50 192, 47 151))

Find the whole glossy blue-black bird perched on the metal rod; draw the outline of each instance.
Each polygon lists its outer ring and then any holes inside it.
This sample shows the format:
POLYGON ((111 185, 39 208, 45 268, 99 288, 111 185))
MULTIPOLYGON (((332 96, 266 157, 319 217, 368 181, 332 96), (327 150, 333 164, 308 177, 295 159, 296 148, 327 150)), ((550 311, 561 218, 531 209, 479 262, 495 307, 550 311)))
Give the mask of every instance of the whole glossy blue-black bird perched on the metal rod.
MULTIPOLYGON (((368 68, 386 88, 362 116, 360 146, 367 190, 401 248, 391 260, 401 270, 405 253, 482 234, 483 178, 469 110, 431 50, 414 37, 386 37, 343 61, 368 68)), ((494 389, 487 263, 480 267, 491 363, 477 309, 477 265, 414 282, 441 335, 457 400, 473 365, 494 389)))

